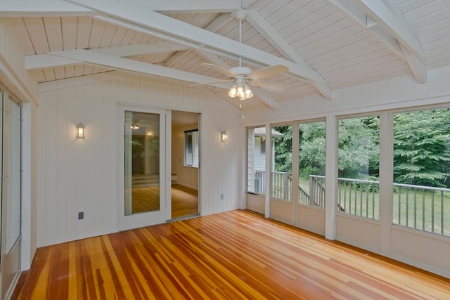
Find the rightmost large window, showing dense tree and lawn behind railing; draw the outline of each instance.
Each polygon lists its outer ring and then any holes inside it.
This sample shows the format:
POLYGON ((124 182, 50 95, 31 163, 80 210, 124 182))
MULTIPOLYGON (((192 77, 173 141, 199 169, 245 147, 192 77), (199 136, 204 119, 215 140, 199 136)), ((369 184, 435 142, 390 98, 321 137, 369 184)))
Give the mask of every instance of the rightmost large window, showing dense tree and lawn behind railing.
POLYGON ((394 115, 393 223, 450 236, 450 109, 394 115))

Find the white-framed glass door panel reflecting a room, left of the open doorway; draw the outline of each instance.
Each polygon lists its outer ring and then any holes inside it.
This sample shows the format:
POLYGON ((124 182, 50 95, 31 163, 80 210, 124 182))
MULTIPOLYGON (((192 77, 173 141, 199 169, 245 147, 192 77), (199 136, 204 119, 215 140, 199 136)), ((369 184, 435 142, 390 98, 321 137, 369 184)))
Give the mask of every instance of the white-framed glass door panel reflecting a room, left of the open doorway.
POLYGON ((120 229, 165 222, 165 110, 120 105, 120 229), (123 160, 122 160, 123 159, 123 160))

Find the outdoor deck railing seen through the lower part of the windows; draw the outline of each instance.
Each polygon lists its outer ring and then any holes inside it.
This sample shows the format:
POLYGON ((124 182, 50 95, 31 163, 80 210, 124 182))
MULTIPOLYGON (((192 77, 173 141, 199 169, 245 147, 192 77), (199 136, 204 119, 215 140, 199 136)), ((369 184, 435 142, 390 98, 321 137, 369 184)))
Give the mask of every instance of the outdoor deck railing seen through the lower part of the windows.
MULTIPOLYGON (((259 193, 265 193, 265 171, 259 193)), ((272 172, 271 197, 291 199, 292 178, 284 172, 272 172)), ((379 219, 379 181, 338 178, 338 209, 367 219, 379 219)), ((298 203, 325 207, 325 176, 309 176, 309 190, 299 185, 298 203)), ((394 183, 392 223, 450 236, 450 189, 394 183)))

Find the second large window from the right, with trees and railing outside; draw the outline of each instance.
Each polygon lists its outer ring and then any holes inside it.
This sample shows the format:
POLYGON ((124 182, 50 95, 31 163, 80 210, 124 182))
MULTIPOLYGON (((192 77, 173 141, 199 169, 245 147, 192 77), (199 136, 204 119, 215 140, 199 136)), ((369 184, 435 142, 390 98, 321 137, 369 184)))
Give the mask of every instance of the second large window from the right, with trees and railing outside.
POLYGON ((380 117, 339 121, 338 210, 379 219, 380 117))

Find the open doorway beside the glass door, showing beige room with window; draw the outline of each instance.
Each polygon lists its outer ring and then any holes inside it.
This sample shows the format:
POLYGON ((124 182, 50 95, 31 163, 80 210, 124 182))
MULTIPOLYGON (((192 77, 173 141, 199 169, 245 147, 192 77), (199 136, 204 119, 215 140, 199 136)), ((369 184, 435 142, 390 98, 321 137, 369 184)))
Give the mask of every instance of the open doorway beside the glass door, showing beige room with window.
POLYGON ((172 220, 199 211, 200 114, 172 111, 172 220))

